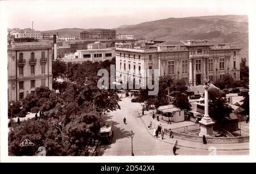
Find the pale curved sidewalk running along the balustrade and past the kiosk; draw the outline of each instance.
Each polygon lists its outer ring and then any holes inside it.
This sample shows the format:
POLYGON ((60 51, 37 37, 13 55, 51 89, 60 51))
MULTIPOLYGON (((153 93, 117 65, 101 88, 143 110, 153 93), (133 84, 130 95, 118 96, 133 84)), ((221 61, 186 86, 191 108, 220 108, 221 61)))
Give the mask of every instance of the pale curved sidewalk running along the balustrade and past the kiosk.
MULTIPOLYGON (((156 113, 156 112, 155 112, 156 113)), ((153 130, 154 128, 157 128, 158 125, 162 125, 163 129, 173 129, 180 128, 181 126, 188 126, 194 124, 191 121, 183 121, 175 124, 167 124, 167 122, 157 121, 156 119, 152 118, 152 110, 150 111, 144 111, 144 115, 142 115, 142 107, 139 107, 138 114, 142 118, 142 121, 144 122, 146 128, 148 129, 148 132, 153 136, 153 130), (152 122, 152 128, 149 129, 148 125, 150 125, 150 122, 152 122)), ((156 137, 155 137, 156 138, 156 137)), ((189 147, 189 148, 197 148, 197 149, 203 149, 203 150, 249 150, 249 142, 245 143, 207 143, 207 145, 204 145, 203 142, 193 142, 193 141, 186 141, 179 138, 170 138, 169 135, 164 135, 164 139, 159 136, 159 141, 164 141, 167 143, 174 144, 174 142, 177 140, 177 145, 180 147, 189 147)))

